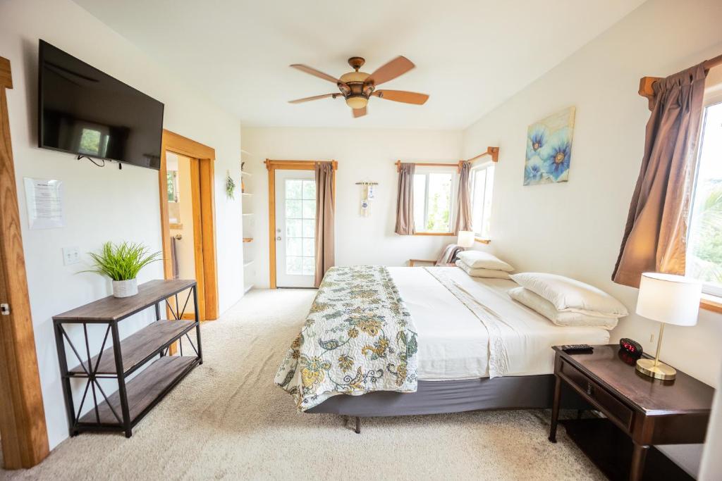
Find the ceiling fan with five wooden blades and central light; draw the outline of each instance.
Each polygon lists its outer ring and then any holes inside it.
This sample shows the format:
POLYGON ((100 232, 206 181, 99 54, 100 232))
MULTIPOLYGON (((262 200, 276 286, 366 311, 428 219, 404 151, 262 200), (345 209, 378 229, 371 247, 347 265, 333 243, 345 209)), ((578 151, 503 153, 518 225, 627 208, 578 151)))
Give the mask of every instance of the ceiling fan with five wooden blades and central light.
POLYGON ((339 93, 314 95, 313 97, 305 97, 303 99, 291 100, 291 104, 299 104, 308 102, 309 100, 319 100, 331 97, 344 97, 346 105, 353 109, 354 117, 362 117, 366 115, 366 105, 370 97, 379 97, 381 99, 393 100, 394 102, 404 102, 406 104, 423 105, 428 99, 427 94, 419 94, 417 92, 406 92, 404 90, 376 90, 376 87, 383 82, 396 79, 396 77, 406 74, 407 71, 414 68, 414 63, 404 56, 398 56, 392 61, 380 66, 373 74, 361 72, 359 69, 365 63, 365 59, 361 57, 349 58, 349 65, 354 71, 336 77, 324 74, 321 71, 313 69, 309 66, 294 63, 292 67, 306 74, 317 76, 320 79, 334 82, 339 87, 339 93))

